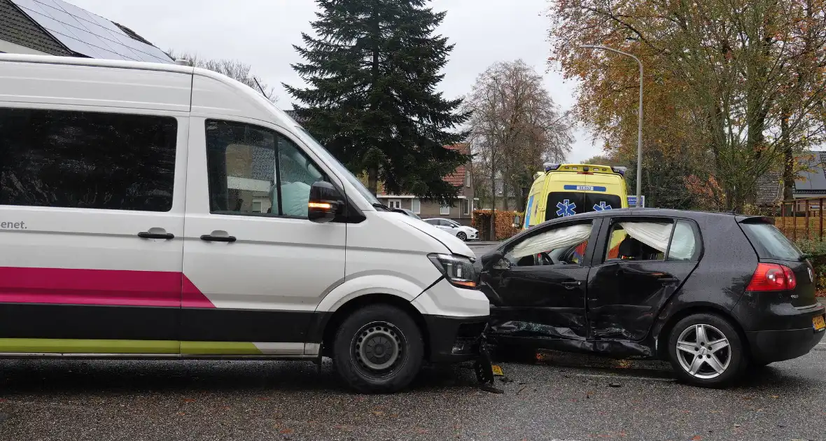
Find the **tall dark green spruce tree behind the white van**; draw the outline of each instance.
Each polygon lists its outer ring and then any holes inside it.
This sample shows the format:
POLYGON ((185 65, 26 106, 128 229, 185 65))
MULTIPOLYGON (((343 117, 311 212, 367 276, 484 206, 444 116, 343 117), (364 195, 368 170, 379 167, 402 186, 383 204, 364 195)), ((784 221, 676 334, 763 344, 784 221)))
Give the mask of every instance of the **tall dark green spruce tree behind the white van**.
POLYGON ((312 135, 354 173, 367 173, 375 193, 452 202, 459 187, 444 176, 468 161, 445 145, 468 133, 453 130, 468 119, 462 99, 436 91, 453 45, 434 36, 444 12, 430 0, 316 0, 311 23, 294 46, 306 63, 292 68, 309 85, 287 88, 312 135))

